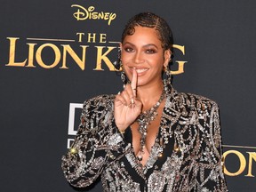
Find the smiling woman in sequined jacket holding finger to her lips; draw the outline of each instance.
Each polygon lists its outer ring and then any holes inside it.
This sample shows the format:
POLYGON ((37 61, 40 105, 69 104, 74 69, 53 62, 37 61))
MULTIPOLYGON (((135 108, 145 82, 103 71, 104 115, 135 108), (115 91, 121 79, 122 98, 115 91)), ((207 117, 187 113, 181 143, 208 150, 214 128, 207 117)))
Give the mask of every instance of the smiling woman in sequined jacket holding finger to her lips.
POLYGON ((227 191, 218 106, 172 88, 166 21, 135 15, 120 48, 124 90, 84 102, 62 158, 68 182, 83 188, 100 176, 105 191, 227 191))

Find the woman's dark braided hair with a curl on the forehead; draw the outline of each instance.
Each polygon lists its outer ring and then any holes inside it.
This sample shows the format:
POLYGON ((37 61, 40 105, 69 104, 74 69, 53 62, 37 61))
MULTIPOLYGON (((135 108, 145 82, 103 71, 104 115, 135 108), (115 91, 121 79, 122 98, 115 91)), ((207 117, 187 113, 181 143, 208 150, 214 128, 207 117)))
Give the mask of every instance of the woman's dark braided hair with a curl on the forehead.
POLYGON ((158 36, 164 50, 170 49, 172 51, 173 38, 171 28, 163 18, 152 12, 141 12, 128 20, 122 34, 122 43, 125 36, 132 36, 134 34, 136 26, 155 28, 158 31, 158 36))

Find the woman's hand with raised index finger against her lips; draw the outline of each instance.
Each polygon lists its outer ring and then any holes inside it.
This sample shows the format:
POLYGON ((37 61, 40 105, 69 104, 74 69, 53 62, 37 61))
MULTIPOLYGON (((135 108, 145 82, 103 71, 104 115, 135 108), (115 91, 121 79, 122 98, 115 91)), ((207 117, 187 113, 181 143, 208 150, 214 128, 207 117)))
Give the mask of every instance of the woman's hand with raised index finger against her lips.
POLYGON ((142 103, 137 100, 137 72, 135 68, 132 70, 132 83, 126 84, 123 92, 116 95, 114 101, 114 117, 116 126, 120 132, 131 125, 140 115, 142 103))

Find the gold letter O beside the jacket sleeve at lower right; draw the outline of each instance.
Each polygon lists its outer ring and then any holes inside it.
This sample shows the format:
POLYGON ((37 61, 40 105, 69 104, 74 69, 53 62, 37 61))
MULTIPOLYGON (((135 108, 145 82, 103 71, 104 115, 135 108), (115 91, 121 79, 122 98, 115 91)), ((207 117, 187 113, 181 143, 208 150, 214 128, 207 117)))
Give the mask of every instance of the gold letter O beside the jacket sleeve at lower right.
POLYGON ((236 156, 238 156, 239 161, 240 161, 240 167, 239 170, 237 172, 228 172, 225 164, 224 164, 224 173, 227 174, 228 176, 237 176, 239 174, 241 174, 242 172, 244 172, 245 166, 246 166, 246 160, 243 156, 242 153, 240 153, 239 151, 236 150, 228 150, 223 154, 223 161, 225 162, 226 157, 229 154, 235 154, 236 156))

